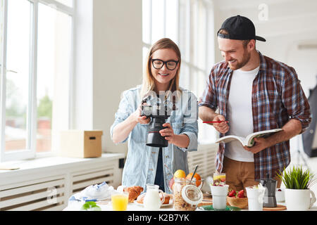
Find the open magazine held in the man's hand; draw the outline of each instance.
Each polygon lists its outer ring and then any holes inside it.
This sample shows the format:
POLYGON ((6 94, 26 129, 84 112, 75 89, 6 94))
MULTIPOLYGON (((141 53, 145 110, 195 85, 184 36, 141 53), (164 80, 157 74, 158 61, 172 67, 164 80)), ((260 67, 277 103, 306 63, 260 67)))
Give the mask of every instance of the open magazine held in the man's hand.
POLYGON ((268 129, 266 131, 258 131, 252 134, 249 134, 248 136, 246 136, 245 138, 242 136, 235 136, 235 135, 228 135, 228 136, 223 136, 222 138, 218 139, 216 141, 216 143, 228 143, 230 141, 240 141, 240 143, 242 143, 242 146, 248 146, 251 147, 254 144, 254 138, 258 138, 258 137, 266 137, 269 136, 272 133, 278 132, 278 131, 282 131, 282 129, 268 129))

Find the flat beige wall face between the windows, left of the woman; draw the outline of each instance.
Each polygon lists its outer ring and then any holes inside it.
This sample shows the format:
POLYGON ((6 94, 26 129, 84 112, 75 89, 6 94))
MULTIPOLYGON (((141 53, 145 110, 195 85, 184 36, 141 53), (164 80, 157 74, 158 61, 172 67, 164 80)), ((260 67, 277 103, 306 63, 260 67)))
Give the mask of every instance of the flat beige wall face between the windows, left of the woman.
POLYGON ((120 94, 142 80, 142 0, 94 0, 94 129, 103 129, 107 152, 115 146, 110 127, 120 94))

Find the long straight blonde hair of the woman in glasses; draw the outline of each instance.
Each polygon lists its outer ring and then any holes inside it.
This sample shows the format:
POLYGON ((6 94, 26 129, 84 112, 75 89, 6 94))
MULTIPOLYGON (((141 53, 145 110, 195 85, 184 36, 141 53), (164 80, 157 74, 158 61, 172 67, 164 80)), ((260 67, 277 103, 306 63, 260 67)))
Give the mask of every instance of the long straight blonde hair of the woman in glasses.
POLYGON ((151 73, 151 59, 153 56, 153 53, 159 49, 173 49, 175 51, 176 55, 178 56, 178 70, 176 71, 176 75, 173 79, 170 80, 170 86, 168 87, 168 91, 174 92, 174 91, 181 91, 179 82, 180 82, 180 49, 178 49, 177 44, 175 44, 174 41, 168 38, 159 39, 159 41, 156 41, 149 50, 149 53, 147 54, 147 61, 145 63, 144 73, 143 73, 143 79, 142 79, 142 89, 141 89, 141 96, 142 98, 146 96, 149 92, 154 91, 155 83, 154 83, 154 77, 151 73))

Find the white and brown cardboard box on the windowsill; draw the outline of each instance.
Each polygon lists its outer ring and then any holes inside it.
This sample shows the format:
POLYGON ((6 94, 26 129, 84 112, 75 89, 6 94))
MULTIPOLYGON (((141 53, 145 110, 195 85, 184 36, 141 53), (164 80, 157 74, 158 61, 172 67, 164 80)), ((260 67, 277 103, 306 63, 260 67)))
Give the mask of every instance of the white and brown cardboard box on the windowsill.
POLYGON ((73 158, 101 157, 101 130, 61 131, 60 155, 73 158))

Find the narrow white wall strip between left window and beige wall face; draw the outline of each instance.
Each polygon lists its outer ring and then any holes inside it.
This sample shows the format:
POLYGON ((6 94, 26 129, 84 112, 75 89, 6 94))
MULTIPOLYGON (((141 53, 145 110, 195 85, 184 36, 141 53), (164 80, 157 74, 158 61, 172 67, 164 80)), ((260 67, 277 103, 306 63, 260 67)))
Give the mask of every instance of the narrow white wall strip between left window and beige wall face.
POLYGON ((74 24, 74 68, 70 83, 71 96, 70 129, 93 129, 92 127, 92 80, 93 80, 93 30, 92 1, 74 1, 76 7, 74 24))

